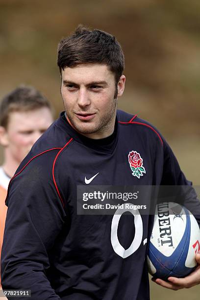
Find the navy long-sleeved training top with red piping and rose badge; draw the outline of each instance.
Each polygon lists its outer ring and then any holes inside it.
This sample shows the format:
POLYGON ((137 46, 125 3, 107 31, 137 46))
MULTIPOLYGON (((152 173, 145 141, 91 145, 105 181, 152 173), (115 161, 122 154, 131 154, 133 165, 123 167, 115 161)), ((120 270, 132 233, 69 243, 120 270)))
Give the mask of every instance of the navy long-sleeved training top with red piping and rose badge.
MULTIPOLYGON (((150 299, 146 254, 153 216, 141 216, 142 242, 127 254, 136 234, 132 215, 117 225, 112 215, 77 215, 76 187, 93 175, 91 185, 191 184, 166 141, 137 116, 118 110, 114 133, 93 140, 61 113, 8 188, 3 289, 30 289, 32 300, 150 299)), ((184 205, 200 215, 193 196, 184 205)))

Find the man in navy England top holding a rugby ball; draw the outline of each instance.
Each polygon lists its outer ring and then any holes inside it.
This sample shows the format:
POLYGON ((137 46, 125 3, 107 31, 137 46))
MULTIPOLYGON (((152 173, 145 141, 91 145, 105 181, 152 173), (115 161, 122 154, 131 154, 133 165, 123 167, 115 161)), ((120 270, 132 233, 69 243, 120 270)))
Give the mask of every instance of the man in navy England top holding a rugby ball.
MULTIPOLYGON (((115 37, 79 26, 59 43, 57 63, 65 112, 11 181, 2 286, 31 290, 32 300, 149 299, 145 241, 153 216, 77 214, 78 186, 188 181, 154 127, 117 111, 125 76, 115 37)), ((195 197, 187 204, 200 212, 195 197)), ((190 285, 200 282, 199 271, 192 276, 190 285)), ((190 281, 157 280, 169 288, 190 281)))

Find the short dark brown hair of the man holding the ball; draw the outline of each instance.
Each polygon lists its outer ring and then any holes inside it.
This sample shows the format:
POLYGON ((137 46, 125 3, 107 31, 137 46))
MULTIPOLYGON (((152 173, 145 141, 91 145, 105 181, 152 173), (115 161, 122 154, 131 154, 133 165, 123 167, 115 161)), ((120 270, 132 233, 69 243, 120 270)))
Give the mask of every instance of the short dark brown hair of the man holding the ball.
POLYGON ((78 25, 71 36, 58 44, 57 64, 61 73, 65 67, 81 63, 107 65, 115 75, 116 85, 125 68, 124 53, 113 35, 78 25))

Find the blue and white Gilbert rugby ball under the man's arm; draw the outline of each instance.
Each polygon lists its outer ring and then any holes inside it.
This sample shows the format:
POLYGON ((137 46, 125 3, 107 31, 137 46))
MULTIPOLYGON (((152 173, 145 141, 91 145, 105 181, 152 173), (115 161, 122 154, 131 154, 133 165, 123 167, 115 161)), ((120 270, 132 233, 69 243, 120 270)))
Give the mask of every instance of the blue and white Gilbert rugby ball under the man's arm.
POLYGON ((196 253, 200 253, 200 227, 195 217, 175 202, 157 204, 147 257, 149 273, 164 280, 184 277, 196 268, 196 253))

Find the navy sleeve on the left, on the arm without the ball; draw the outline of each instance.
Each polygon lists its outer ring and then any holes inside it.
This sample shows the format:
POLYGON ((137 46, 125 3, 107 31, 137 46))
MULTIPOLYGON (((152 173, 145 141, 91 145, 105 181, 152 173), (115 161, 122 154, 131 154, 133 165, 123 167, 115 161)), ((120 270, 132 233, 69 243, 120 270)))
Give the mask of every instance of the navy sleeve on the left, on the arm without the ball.
POLYGON ((50 175, 50 159, 47 154, 42 158, 33 160, 9 188, 1 283, 3 289, 31 290, 32 300, 59 300, 46 271, 50 267, 48 254, 64 224, 65 211, 50 175))

